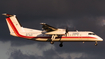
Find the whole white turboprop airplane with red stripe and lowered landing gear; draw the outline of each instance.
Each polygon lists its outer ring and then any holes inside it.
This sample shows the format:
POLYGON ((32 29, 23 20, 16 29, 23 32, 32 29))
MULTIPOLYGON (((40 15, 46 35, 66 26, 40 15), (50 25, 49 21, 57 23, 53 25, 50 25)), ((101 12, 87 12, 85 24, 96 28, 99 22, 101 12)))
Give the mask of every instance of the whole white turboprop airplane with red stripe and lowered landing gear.
POLYGON ((42 30, 30 29, 20 26, 16 15, 3 14, 7 16, 6 21, 9 27, 10 35, 26 38, 35 41, 60 42, 59 46, 63 46, 63 42, 95 42, 103 41, 98 35, 91 31, 68 31, 67 29, 59 29, 52 27, 46 23, 40 23, 42 30))

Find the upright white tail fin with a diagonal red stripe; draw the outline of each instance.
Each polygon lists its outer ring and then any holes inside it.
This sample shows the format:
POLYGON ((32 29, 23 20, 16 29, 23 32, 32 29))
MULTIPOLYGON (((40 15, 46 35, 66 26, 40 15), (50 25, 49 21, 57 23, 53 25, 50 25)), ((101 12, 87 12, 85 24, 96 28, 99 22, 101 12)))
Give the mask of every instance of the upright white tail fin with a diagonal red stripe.
POLYGON ((6 21, 10 30, 10 34, 15 36, 19 35, 19 33, 22 32, 22 27, 17 21, 16 15, 5 14, 5 16, 7 16, 6 21))

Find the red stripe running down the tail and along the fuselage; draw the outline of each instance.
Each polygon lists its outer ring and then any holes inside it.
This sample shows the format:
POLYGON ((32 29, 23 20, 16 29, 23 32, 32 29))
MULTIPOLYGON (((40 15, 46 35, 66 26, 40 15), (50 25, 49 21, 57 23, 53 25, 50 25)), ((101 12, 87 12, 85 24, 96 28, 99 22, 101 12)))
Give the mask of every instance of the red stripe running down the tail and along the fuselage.
MULTIPOLYGON (((6 18, 6 20, 8 21, 8 23, 10 24, 11 28, 13 29, 14 33, 18 36, 18 37, 22 37, 22 38, 28 38, 28 39, 32 39, 32 38, 51 38, 51 37, 32 37, 32 36, 24 36, 24 35, 21 35, 18 30, 16 29, 16 27, 14 26, 13 22, 11 21, 10 18, 6 18)), ((84 38, 84 39, 88 39, 88 38, 91 38, 91 39, 96 39, 95 37, 57 37, 57 38, 74 38, 74 39, 79 39, 79 38, 84 38)))

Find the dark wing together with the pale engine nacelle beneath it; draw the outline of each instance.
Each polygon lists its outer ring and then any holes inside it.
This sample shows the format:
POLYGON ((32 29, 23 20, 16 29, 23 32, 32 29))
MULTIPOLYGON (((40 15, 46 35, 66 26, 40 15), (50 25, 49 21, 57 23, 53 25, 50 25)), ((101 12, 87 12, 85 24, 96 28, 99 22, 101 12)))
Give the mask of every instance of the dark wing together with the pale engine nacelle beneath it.
POLYGON ((53 34, 57 34, 57 35, 63 35, 66 33, 66 29, 58 29, 55 27, 52 27, 46 23, 40 23, 42 26, 42 28, 47 32, 45 34, 47 35, 53 35, 53 34))

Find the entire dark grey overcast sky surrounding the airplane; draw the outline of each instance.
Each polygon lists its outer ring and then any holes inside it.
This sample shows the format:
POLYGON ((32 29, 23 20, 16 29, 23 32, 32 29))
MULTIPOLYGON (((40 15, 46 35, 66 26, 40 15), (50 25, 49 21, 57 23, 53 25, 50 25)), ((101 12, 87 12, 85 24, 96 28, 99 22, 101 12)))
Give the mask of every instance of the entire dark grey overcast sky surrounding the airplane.
MULTIPOLYGON (((45 22, 57 28, 93 31, 105 39, 105 0, 0 0, 0 14, 16 14, 23 27, 40 29, 45 22)), ((105 43, 37 42, 9 35, 0 16, 0 59, 104 59, 105 43)))

